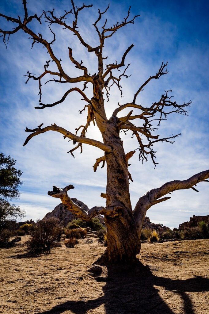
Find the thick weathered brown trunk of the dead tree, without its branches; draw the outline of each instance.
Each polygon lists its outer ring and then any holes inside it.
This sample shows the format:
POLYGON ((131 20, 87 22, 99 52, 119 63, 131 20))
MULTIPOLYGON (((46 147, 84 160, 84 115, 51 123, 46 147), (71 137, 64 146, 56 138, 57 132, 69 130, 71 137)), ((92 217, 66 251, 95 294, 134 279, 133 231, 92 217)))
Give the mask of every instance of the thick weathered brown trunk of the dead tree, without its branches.
POLYGON ((128 163, 114 122, 102 134, 104 143, 112 147, 105 153, 107 163, 106 206, 117 208, 115 217, 105 216, 107 227, 107 249, 97 263, 129 261, 140 252, 140 232, 131 211, 128 163))

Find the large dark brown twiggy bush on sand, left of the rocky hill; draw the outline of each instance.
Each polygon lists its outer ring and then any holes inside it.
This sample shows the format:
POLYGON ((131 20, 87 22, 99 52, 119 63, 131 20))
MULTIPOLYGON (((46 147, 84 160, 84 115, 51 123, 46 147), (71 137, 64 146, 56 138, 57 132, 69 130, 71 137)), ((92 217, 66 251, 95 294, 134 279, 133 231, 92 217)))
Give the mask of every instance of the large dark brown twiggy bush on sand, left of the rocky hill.
POLYGON ((37 220, 36 225, 29 228, 27 246, 33 251, 50 251, 52 243, 59 241, 62 235, 62 226, 54 217, 37 220))

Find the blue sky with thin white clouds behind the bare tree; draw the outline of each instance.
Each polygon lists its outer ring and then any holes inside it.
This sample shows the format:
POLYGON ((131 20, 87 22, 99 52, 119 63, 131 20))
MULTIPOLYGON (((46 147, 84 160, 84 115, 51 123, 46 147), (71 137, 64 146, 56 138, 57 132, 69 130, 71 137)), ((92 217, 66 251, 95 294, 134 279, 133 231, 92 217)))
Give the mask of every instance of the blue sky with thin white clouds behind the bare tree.
MULTIPOLYGON (((91 3, 94 7, 81 14, 78 26, 81 34, 94 46, 98 38, 92 23, 97 18, 98 7, 104 10, 108 1, 91 3)), ((83 3, 79 1, 76 4, 83 3)), ((159 165, 155 170, 150 161, 142 165, 137 153, 131 158, 130 172, 134 182, 130 183, 130 193, 134 207, 138 198, 151 188, 159 187, 170 180, 184 180, 208 169, 209 5, 206 1, 113 1, 106 14, 109 23, 121 21, 129 5, 131 14, 140 14, 141 17, 134 25, 118 30, 114 37, 107 40, 104 54, 109 56, 109 63, 120 60, 126 48, 134 43, 135 46, 126 59, 126 64, 131 63, 128 69, 131 77, 122 82, 122 100, 119 91, 112 90, 110 103, 105 105, 107 115, 110 116, 118 102, 126 103, 130 101, 130 97, 132 100, 138 87, 157 72, 163 60, 169 62, 169 74, 150 82, 138 97, 137 103, 152 104, 168 89, 173 90, 177 102, 191 99, 193 103, 188 117, 170 116, 159 128, 158 133, 162 136, 169 136, 171 133, 182 135, 173 145, 156 145, 159 165)), ((51 8, 56 8, 57 14, 62 14, 64 9, 69 8, 69 1, 34 0, 29 1, 28 8, 31 14, 41 14, 42 9, 51 8)), ((21 15, 21 1, 1 3, 0 11, 14 17, 21 15)), ((2 29, 9 27, 8 22, 2 19, 0 25, 2 29)), ((44 24, 41 26, 34 23, 33 28, 51 36, 44 24)), ((94 55, 89 54, 75 36, 61 28, 56 28, 56 34, 57 41, 53 48, 62 57, 62 64, 70 73, 80 74, 68 61, 67 46, 72 47, 78 60, 83 60, 88 72, 96 72, 94 55)), ((83 102, 76 94, 71 94, 64 103, 56 107, 34 109, 39 100, 38 83, 29 81, 27 85, 24 84, 23 75, 27 70, 37 75, 42 73, 45 60, 49 57, 38 44, 31 50, 31 44, 28 35, 23 31, 11 35, 7 50, 3 41, 0 42, 0 150, 17 160, 16 165, 23 171, 24 181, 20 189, 20 199, 15 200, 15 203, 25 208, 26 219, 41 219, 58 204, 56 199, 47 195, 52 185, 62 187, 73 184, 75 189, 70 192, 71 197, 82 200, 90 208, 105 205, 105 200, 100 198, 100 193, 105 192, 105 168, 98 168, 94 173, 92 167, 95 159, 102 155, 99 149, 83 146, 83 154, 77 151, 76 158, 73 159, 66 154, 71 144, 63 140, 60 134, 52 132, 37 136, 25 147, 22 146, 27 136, 24 132, 26 126, 34 128, 42 122, 45 126, 55 122, 73 132, 86 119, 85 115, 80 116, 78 113, 78 110, 83 109, 83 102)), ((64 86, 49 83, 43 88, 43 101, 50 103, 58 100, 66 90, 64 86)), ((89 88, 88 96, 92 97, 91 95, 89 88)), ((96 127, 90 127, 88 137, 100 139, 96 127)), ((126 152, 137 148, 137 143, 131 136, 124 135, 123 140, 126 152)), ((200 183, 197 189, 199 193, 191 189, 174 192, 170 200, 149 209, 147 216, 153 222, 177 227, 194 214, 208 214, 208 185, 200 183)))

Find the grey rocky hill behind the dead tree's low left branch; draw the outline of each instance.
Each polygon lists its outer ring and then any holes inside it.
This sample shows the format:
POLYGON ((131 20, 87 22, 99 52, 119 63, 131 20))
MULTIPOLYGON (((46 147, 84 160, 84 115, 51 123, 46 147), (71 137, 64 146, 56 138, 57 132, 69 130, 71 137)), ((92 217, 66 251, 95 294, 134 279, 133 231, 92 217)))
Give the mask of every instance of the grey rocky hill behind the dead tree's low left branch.
MULTIPOLYGON (((87 205, 79 201, 77 198, 72 198, 72 201, 82 207, 85 211, 88 211, 87 205)), ((71 222, 73 219, 78 219, 78 217, 72 214, 71 211, 67 210, 62 203, 57 205, 52 212, 47 213, 44 218, 48 217, 58 218, 64 223, 64 226, 67 226, 68 222, 71 222)), ((97 215, 96 218, 99 219, 100 224, 105 225, 104 218, 101 215, 97 215)))

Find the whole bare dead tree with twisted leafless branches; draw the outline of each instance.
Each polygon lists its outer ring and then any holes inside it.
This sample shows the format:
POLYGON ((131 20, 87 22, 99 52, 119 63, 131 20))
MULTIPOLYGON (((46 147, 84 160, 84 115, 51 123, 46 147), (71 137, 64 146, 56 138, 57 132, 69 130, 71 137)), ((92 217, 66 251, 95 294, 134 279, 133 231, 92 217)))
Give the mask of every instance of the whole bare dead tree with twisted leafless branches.
MULTIPOLYGON (((137 138, 139 147, 139 159, 147 160, 148 156, 151 157, 154 166, 156 166, 155 161, 155 151, 153 150, 153 145, 157 142, 168 142, 173 143, 174 139, 180 134, 173 135, 172 137, 159 138, 159 135, 155 135, 156 128, 153 127, 154 123, 158 123, 167 118, 168 115, 172 113, 178 113, 181 115, 187 115, 187 108, 190 106, 191 101, 183 104, 178 104, 171 98, 171 90, 166 91, 159 100, 154 102, 149 107, 143 107, 137 104, 137 96, 143 90, 143 88, 153 79, 159 79, 161 76, 168 73, 167 71, 167 62, 160 65, 157 73, 150 76, 142 86, 136 91, 135 95, 130 102, 123 105, 119 105, 112 113, 110 119, 107 119, 105 113, 105 104, 104 104, 104 93, 106 93, 107 101, 109 101, 110 89, 113 85, 116 85, 120 90, 121 89, 121 79, 123 77, 127 78, 126 74, 127 66, 125 66, 125 59, 128 52, 133 48, 133 44, 126 49, 121 59, 115 63, 105 64, 104 60, 107 57, 103 57, 103 47, 105 40, 112 37, 117 30, 122 27, 125 27, 127 24, 134 24, 135 19, 139 15, 131 17, 130 8, 128 10, 127 16, 122 20, 122 22, 117 22, 112 26, 107 26, 108 22, 105 19, 102 23, 103 16, 109 9, 108 7, 104 12, 99 10, 98 18, 94 22, 94 28, 99 36, 99 46, 93 47, 80 35, 78 31, 78 14, 81 10, 92 7, 92 5, 83 4, 82 7, 76 7, 73 0, 71 0, 72 8, 69 11, 65 11, 62 16, 57 16, 55 10, 43 11, 42 15, 39 17, 37 14, 28 15, 27 3, 26 0, 23 0, 24 7, 24 18, 21 19, 19 16, 17 18, 6 16, 0 14, 1 17, 7 21, 12 22, 16 26, 12 30, 0 30, 3 36, 3 42, 7 45, 7 41, 11 34, 23 30, 28 34, 32 39, 32 47, 35 43, 40 43, 44 46, 49 53, 50 60, 55 62, 57 72, 49 70, 49 62, 46 61, 44 65, 44 71, 40 76, 35 76, 32 73, 27 73, 27 81, 31 78, 39 82, 39 105, 35 107, 36 109, 44 109, 47 107, 53 107, 57 104, 62 103, 68 94, 73 91, 79 93, 83 100, 86 102, 85 108, 88 109, 87 113, 87 122, 85 125, 81 125, 76 129, 76 133, 72 133, 63 127, 57 126, 56 124, 51 124, 47 127, 42 127, 43 123, 39 127, 34 129, 26 128, 26 132, 30 133, 27 137, 24 145, 26 145, 31 138, 41 133, 47 131, 56 131, 62 133, 64 138, 72 140, 73 144, 76 144, 69 152, 74 157, 74 151, 76 149, 81 149, 82 144, 88 144, 95 147, 98 147, 103 151, 103 155, 100 158, 96 159, 94 165, 94 171, 97 170, 97 167, 100 163, 104 166, 105 162, 107 165, 107 187, 106 193, 102 193, 102 197, 106 198, 106 207, 93 207, 90 210, 85 211, 83 208, 78 206, 72 201, 68 196, 67 191, 74 188, 72 185, 68 185, 64 188, 53 187, 53 191, 49 191, 48 194, 55 198, 60 198, 62 203, 69 209, 73 214, 77 215, 83 220, 89 220, 95 217, 98 214, 103 214, 105 216, 105 224, 107 226, 107 241, 108 246, 104 255, 99 259, 99 263, 106 262, 115 262, 118 260, 131 260, 136 257, 136 254, 140 252, 141 243, 140 235, 142 230, 142 224, 145 218, 147 210, 160 202, 166 201, 170 197, 164 197, 168 193, 179 189, 189 189, 197 191, 194 186, 198 182, 207 181, 209 178, 209 170, 200 172, 185 181, 171 181, 165 183, 162 187, 153 189, 145 193, 142 197, 139 198, 134 210, 131 208, 130 194, 129 194, 129 180, 131 179, 131 174, 128 171, 128 160, 135 153, 136 150, 125 153, 123 148, 123 142, 120 138, 120 132, 128 131, 132 132, 133 137, 137 138), (73 16, 72 22, 70 22, 70 16, 73 16), (37 20, 41 24, 42 19, 48 23, 49 29, 51 31, 52 39, 46 40, 43 38, 41 33, 35 33, 29 27, 30 22, 37 20), (102 24, 101 24, 102 23, 102 24), (97 57, 98 62, 98 72, 94 75, 88 74, 89 71, 86 66, 83 65, 83 62, 79 62, 74 58, 72 49, 68 47, 69 59, 75 65, 76 68, 81 70, 81 76, 70 77, 67 74, 67 69, 63 69, 61 59, 55 55, 52 45, 56 40, 56 35, 53 32, 53 24, 58 24, 64 30, 72 32, 75 35, 80 43, 86 47, 89 53, 94 53, 97 57), (101 27, 99 25, 102 25, 101 27), (7 39, 8 35, 8 39, 7 39), (121 68, 125 67, 125 70, 122 71, 121 68), (119 72, 118 72, 119 71, 119 72), (119 73, 120 75, 117 75, 119 73), (42 80, 47 76, 51 75, 51 79, 47 80, 53 81, 58 84, 73 84, 78 82, 83 82, 84 87, 80 89, 78 87, 71 87, 63 95, 63 97, 55 101, 52 104, 44 104, 41 100, 41 86, 42 80), (91 99, 88 99, 85 94, 85 89, 87 84, 90 84, 93 89, 93 95, 91 99), (118 117, 118 113, 122 112, 124 109, 130 108, 130 112, 123 116, 118 117), (134 115, 133 110, 137 110, 138 114, 134 115), (135 121, 139 121, 137 124, 135 121), (99 131, 102 134, 103 142, 97 141, 92 138, 86 137, 87 129, 90 123, 93 122, 99 128, 99 131), (137 126, 139 125, 139 126, 137 126)), ((80 111, 80 113, 82 113, 80 111)))

